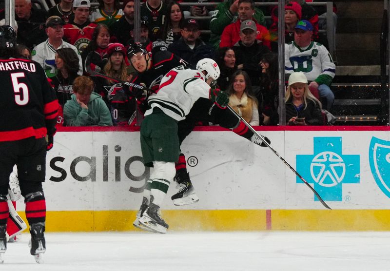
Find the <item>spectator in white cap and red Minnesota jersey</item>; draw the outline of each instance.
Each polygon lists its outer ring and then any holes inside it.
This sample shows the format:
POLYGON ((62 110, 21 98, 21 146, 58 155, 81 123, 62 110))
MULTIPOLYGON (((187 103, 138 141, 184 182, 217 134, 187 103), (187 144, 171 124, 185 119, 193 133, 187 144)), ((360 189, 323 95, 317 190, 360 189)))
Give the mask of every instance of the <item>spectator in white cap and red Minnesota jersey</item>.
POLYGON ((89 0, 75 0, 73 2, 73 13, 75 18, 64 25, 64 38, 74 45, 81 53, 88 46, 92 39, 92 33, 96 23, 91 23, 88 19, 91 11, 91 2, 89 0))

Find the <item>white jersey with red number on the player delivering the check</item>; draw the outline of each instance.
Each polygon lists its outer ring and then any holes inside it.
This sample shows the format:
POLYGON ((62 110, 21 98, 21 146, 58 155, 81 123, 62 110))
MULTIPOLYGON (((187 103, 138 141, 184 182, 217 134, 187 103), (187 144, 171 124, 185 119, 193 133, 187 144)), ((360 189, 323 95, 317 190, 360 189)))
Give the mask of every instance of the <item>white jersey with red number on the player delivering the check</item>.
POLYGON ((162 78, 157 94, 148 98, 151 109, 145 112, 145 116, 158 107, 177 121, 183 120, 198 98, 209 98, 209 95, 210 86, 201 72, 177 67, 162 78))

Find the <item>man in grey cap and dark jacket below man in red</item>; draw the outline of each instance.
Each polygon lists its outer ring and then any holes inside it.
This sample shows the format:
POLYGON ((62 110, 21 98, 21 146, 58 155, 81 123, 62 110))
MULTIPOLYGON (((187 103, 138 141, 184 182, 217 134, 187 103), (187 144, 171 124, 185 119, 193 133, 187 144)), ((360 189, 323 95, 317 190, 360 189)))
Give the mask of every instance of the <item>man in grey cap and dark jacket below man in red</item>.
POLYGON ((237 68, 249 74, 255 94, 258 93, 260 88, 262 71, 260 61, 264 54, 270 52, 267 46, 256 39, 256 30, 257 25, 253 20, 244 20, 240 27, 240 40, 233 46, 237 68))

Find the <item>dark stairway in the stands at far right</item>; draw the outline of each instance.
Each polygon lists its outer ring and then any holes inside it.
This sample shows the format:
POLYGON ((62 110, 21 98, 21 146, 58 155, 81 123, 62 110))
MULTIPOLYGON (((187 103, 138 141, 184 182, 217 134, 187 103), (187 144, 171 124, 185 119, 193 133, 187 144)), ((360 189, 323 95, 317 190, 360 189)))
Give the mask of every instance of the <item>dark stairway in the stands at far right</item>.
MULTIPOLYGON (((335 125, 386 125, 388 94, 381 87, 379 38, 383 1, 344 0, 338 8, 335 125)), ((387 90, 388 92, 388 90, 387 90)))

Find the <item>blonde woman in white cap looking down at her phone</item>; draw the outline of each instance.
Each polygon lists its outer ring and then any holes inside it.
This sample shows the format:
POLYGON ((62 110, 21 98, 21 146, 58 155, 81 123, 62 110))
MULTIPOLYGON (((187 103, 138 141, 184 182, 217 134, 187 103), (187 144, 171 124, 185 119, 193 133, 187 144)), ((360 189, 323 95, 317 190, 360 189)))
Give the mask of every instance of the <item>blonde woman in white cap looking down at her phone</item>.
POLYGON ((286 97, 286 120, 288 125, 323 125, 321 102, 309 90, 304 73, 292 73, 286 97))

